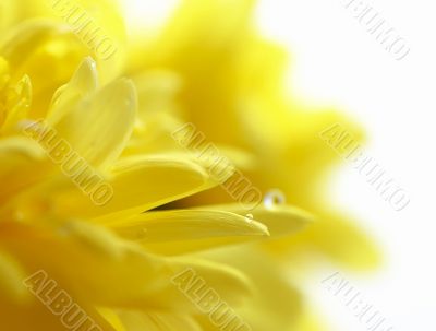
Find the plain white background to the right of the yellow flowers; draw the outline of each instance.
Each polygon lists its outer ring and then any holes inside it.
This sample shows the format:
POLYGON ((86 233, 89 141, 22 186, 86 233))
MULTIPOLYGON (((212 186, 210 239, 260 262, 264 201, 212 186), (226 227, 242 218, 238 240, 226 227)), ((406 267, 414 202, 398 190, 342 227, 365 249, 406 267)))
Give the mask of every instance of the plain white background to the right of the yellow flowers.
MULTIPOLYGON (((145 22, 145 12, 157 20, 167 3, 177 1, 133 2, 131 20, 145 22)), ((379 273, 364 279, 350 274, 349 280, 386 317, 385 327, 436 330, 435 2, 365 3, 407 40, 411 51, 403 60, 396 61, 353 17, 353 5, 344 9, 343 0, 261 0, 258 20, 268 36, 291 50, 292 93, 356 118, 370 137, 367 154, 411 197, 409 206, 393 211, 344 163, 332 188, 336 203, 364 220, 362 226, 377 239, 387 261, 379 273)), ((334 330, 366 330, 319 283, 311 288, 334 330)))

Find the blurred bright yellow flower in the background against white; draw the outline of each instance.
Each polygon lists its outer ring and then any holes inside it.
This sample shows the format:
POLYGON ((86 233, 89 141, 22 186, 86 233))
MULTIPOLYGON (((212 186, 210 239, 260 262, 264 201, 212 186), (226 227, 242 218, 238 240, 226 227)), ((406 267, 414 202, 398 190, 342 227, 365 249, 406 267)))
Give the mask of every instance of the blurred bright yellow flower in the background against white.
MULTIPOLYGON (((288 203, 315 215, 317 222, 305 230, 262 245, 279 257, 282 267, 293 269, 295 280, 302 274, 302 261, 317 261, 313 253, 325 256, 342 268, 374 268, 380 257, 372 239, 325 197, 327 175, 339 157, 319 138, 322 131, 336 122, 359 140, 363 134, 356 125, 334 109, 313 111, 318 109, 288 97, 282 83, 288 56, 256 32, 252 20, 254 3, 184 1, 156 39, 144 42, 146 47, 132 52, 130 72, 160 70, 175 74, 178 107, 169 111, 195 123, 222 152, 231 152, 227 156, 263 192, 279 188, 288 203)), ((135 81, 140 91, 147 84, 144 73, 136 75, 135 81)), ((215 188, 177 205, 228 203, 230 199, 222 188, 215 188)), ((264 221, 256 212, 253 214, 264 221)), ((244 250, 242 260, 250 261, 255 253, 244 250)), ((221 259, 229 261, 228 257, 234 255, 223 250, 221 259)), ((239 263, 238 268, 252 273, 247 263, 239 263)), ((259 292, 270 292, 270 284, 261 286, 259 292)), ((283 303, 278 297, 263 300, 283 303)), ((277 317, 266 311, 261 314, 265 321, 277 317)), ((267 328, 263 327, 258 330, 267 328)), ((292 324, 282 320, 280 327, 276 329, 286 330, 292 324)), ((301 328, 316 327, 303 317, 301 328)), ((276 329, 271 324, 267 328, 276 329)))

